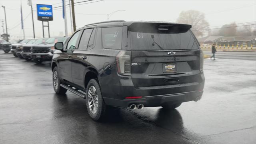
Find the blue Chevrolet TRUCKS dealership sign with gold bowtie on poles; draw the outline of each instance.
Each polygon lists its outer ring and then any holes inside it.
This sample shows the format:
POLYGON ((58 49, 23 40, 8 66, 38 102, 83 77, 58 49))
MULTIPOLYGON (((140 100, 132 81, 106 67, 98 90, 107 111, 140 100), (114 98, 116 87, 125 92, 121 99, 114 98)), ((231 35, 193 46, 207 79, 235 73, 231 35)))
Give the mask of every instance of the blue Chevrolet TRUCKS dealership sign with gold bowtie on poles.
POLYGON ((41 20, 41 21, 53 20, 52 5, 36 4, 36 8, 37 8, 37 20, 41 20))

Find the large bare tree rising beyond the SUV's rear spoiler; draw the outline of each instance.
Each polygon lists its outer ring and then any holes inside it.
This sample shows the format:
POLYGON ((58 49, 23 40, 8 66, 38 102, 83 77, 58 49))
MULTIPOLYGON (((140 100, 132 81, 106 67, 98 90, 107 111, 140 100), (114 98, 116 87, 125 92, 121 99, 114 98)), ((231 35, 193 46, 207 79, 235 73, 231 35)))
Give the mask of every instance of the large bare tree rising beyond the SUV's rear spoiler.
POLYGON ((191 30, 196 37, 204 36, 204 34, 208 32, 209 28, 209 24, 204 18, 204 13, 198 10, 182 11, 176 22, 191 24, 191 30))

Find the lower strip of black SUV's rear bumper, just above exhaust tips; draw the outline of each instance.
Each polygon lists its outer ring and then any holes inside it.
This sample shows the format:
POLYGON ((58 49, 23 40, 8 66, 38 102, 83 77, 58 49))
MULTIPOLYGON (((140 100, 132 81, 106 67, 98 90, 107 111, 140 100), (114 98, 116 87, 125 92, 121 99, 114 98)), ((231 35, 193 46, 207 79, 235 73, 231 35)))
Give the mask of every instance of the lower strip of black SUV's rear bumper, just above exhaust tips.
POLYGON ((107 105, 117 107, 128 107, 130 104, 144 104, 144 107, 162 106, 168 104, 178 104, 188 101, 198 101, 201 99, 203 91, 200 92, 184 92, 179 94, 167 94, 158 96, 144 96, 142 99, 137 100, 118 100, 112 98, 104 98, 107 105))

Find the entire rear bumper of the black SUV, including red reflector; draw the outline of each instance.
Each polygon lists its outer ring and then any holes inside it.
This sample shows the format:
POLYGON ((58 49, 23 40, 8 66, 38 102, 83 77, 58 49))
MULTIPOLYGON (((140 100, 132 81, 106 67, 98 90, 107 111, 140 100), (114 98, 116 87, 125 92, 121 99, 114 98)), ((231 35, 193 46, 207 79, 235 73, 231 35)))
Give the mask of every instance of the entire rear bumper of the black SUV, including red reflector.
POLYGON ((102 84, 104 102, 110 106, 127 107, 130 104, 144 104, 145 107, 162 106, 200 100, 204 89, 204 73, 194 75, 196 82, 135 88, 130 77, 121 78, 119 83, 102 84), (141 99, 126 99, 142 96, 141 99))

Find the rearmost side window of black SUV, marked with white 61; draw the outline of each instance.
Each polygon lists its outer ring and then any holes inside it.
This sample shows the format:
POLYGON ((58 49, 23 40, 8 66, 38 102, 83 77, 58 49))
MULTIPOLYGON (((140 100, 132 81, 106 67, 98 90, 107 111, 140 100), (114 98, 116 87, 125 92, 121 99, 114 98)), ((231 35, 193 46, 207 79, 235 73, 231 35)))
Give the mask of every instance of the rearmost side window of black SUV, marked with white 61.
POLYGON ((102 44, 104 48, 120 50, 122 27, 102 28, 102 44))

